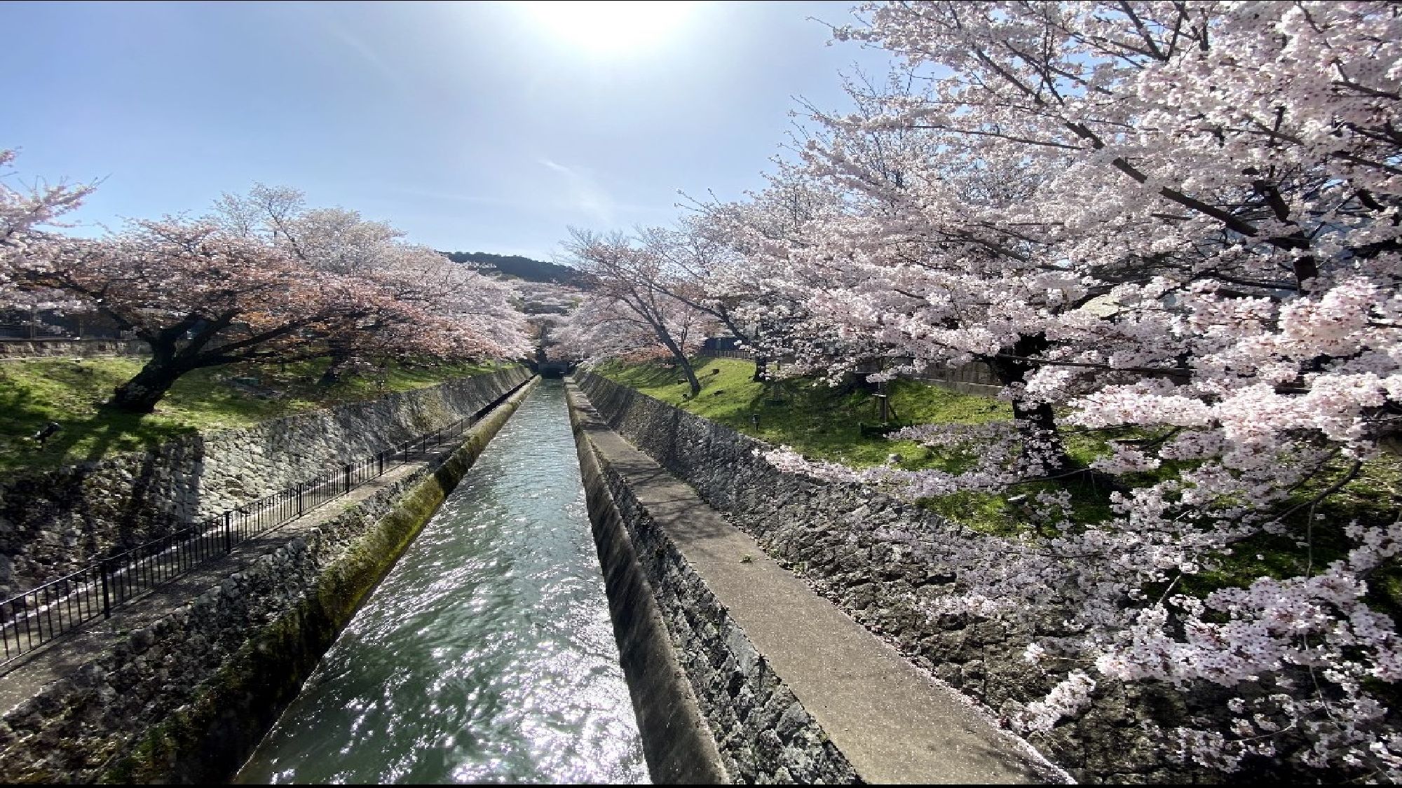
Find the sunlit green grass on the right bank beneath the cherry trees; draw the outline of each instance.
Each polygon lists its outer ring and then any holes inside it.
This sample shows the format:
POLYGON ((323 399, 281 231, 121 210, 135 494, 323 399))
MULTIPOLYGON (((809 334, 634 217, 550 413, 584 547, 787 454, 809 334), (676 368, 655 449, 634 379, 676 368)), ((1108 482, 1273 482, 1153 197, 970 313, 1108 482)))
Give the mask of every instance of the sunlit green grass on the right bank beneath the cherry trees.
MULTIPOLYGON (((596 372, 631 386, 649 397, 679 405, 700 416, 725 423, 739 432, 774 444, 788 444, 810 458, 833 460, 852 467, 882 464, 890 454, 903 468, 941 468, 958 473, 972 463, 979 446, 937 451, 911 442, 887 440, 864 435, 859 423, 878 421, 876 400, 869 387, 838 386, 813 380, 789 380, 778 388, 751 380, 753 362, 743 359, 694 359, 701 393, 690 397, 680 373, 666 362, 644 365, 608 363, 596 372)), ((901 423, 979 423, 1011 419, 1007 402, 993 397, 959 394, 911 380, 889 384, 890 401, 901 423)), ((1067 453, 1080 463, 1089 463, 1109 451, 1115 439, 1147 437, 1131 429, 1110 432, 1075 432, 1066 429, 1067 453)), ((1319 480, 1294 492, 1294 502, 1308 502, 1345 471, 1339 460, 1319 480)), ((1130 485, 1148 485, 1180 468, 1165 467, 1154 474, 1127 477, 1130 485)), ((1094 478, 1044 481, 1018 485, 1005 494, 958 492, 928 498, 921 505, 974 530, 998 536, 1025 534, 1035 529, 1026 502, 1037 491, 1071 494, 1073 516, 1081 523, 1108 519, 1110 491, 1094 478)), ((1384 456, 1364 464, 1361 473, 1329 501, 1308 508, 1284 522, 1281 536, 1260 536, 1237 545, 1228 557, 1218 557, 1210 569, 1187 578, 1189 592, 1206 593, 1214 587, 1242 585, 1253 578, 1297 576, 1311 568, 1318 571, 1329 561, 1343 558, 1350 548, 1343 526, 1352 520, 1381 524, 1398 517, 1402 506, 1402 461, 1384 456), (1305 547, 1305 543, 1309 547, 1305 547)), ((1371 578, 1371 599, 1384 609, 1402 610, 1402 571, 1384 568, 1371 578)))

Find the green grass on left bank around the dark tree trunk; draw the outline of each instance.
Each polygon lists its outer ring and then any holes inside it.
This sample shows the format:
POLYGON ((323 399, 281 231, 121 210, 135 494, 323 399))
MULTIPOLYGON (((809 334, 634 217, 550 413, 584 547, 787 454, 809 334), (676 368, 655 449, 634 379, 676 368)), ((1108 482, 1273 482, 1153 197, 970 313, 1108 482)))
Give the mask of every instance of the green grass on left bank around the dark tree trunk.
POLYGON ((185 374, 150 415, 101 404, 135 376, 140 356, 15 359, 0 362, 0 470, 49 468, 115 451, 158 446, 191 432, 250 426, 266 419, 369 400, 491 372, 491 363, 391 363, 379 374, 317 386, 328 360, 236 365, 185 374), (233 379, 247 379, 236 383, 233 379), (251 380, 257 379, 257 384, 251 380), (60 430, 41 450, 29 440, 49 421, 60 430))

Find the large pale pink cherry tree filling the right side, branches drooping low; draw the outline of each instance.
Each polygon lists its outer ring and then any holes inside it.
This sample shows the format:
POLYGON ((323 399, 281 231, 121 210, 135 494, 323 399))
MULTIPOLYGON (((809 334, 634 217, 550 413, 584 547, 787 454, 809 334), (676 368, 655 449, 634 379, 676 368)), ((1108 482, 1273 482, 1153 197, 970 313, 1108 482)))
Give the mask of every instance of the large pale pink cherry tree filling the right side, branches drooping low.
POLYGON ((932 613, 1073 611, 1073 634, 1029 658, 1094 669, 1061 667, 1025 709, 1029 729, 1077 714, 1101 683, 1210 683, 1241 688, 1237 719, 1168 732, 1183 757, 1231 770, 1280 754, 1395 780, 1396 716, 1370 687, 1396 681, 1399 639, 1367 593, 1402 526, 1395 512, 1335 520, 1329 502, 1382 461, 1402 418, 1402 11, 864 13, 837 36, 903 70, 894 90, 857 91, 858 112, 816 115, 803 177, 840 198, 763 254, 788 265, 778 287, 815 330, 871 337, 910 367, 990 362, 1018 423, 897 435, 979 442, 959 474, 774 461, 913 496, 1002 491, 1059 468, 1056 443, 1037 440, 1054 437, 1053 408, 1081 430, 1134 430, 1094 463, 1119 480, 1112 517, 1085 522, 1042 492, 1023 538, 923 544, 960 579, 932 613), (1315 562, 1325 531, 1352 548, 1315 562), (1183 590, 1270 538, 1298 545, 1295 575, 1183 590))

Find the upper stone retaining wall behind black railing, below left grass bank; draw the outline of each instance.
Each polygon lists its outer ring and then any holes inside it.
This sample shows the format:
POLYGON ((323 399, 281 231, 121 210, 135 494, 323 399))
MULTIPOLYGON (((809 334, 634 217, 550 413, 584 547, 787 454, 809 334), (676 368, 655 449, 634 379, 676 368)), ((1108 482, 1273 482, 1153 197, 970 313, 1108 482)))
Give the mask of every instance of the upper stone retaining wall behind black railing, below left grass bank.
POLYGON ((530 377, 460 379, 0 482, 0 597, 471 415, 530 377))

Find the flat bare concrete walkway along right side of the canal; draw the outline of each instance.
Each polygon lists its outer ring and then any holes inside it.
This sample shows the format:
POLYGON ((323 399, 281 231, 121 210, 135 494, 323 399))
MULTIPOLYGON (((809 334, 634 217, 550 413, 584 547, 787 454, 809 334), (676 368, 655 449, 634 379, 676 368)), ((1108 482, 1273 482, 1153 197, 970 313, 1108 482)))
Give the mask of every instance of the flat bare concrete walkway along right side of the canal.
POLYGON ((768 558, 690 487, 610 430, 571 386, 580 428, 865 782, 1067 782, 1030 746, 768 558))

